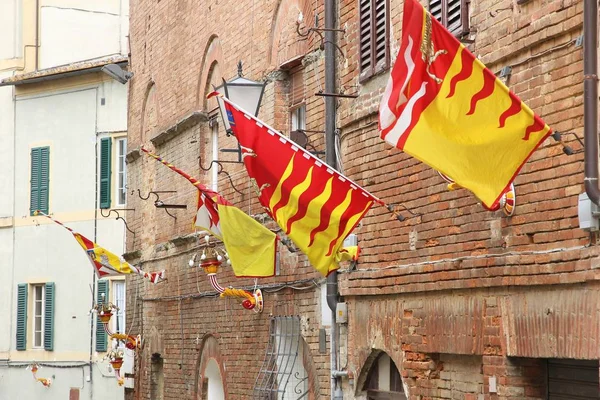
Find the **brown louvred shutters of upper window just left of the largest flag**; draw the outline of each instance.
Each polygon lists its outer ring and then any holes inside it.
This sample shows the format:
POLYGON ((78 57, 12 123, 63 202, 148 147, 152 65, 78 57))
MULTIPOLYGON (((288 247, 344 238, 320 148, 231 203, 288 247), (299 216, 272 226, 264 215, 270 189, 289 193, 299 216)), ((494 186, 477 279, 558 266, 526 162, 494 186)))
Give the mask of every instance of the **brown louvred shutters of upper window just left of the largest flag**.
POLYGON ((390 65, 388 0, 360 0, 360 79, 385 71, 390 65))

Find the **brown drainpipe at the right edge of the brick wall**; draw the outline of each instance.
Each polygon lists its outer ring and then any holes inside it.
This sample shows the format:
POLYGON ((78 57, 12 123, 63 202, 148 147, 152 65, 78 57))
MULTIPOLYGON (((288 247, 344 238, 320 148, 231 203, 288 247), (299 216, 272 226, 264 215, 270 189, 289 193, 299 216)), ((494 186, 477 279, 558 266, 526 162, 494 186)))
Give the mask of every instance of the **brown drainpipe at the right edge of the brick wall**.
POLYGON ((583 7, 583 118, 585 192, 600 203, 598 188, 598 3, 585 0, 583 7))

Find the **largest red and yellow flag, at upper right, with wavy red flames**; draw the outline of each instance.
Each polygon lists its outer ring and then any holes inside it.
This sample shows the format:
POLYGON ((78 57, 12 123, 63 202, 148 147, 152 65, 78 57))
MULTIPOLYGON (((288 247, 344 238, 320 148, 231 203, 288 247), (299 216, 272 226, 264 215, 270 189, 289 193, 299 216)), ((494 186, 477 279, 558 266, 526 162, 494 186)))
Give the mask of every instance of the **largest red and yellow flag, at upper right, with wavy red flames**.
POLYGON ((496 209, 550 128, 417 0, 403 18, 381 137, 496 209))

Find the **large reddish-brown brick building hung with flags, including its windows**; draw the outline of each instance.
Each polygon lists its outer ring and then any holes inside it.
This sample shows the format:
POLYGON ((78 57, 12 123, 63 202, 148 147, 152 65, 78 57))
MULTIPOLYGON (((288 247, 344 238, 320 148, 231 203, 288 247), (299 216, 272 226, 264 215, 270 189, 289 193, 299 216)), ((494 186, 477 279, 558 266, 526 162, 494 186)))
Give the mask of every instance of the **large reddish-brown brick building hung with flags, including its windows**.
MULTIPOLYGON (((515 181, 510 218, 485 211, 464 190, 447 191, 437 173, 378 138, 402 4, 338 4, 337 88, 358 95, 337 100, 339 162, 367 190, 411 211, 399 206, 407 217, 399 222, 374 208, 354 231, 360 263, 339 275, 349 316, 340 325, 344 396, 545 399, 579 391, 597 398, 598 247, 577 219, 583 4, 429 4, 553 129, 574 133, 563 135, 574 154, 550 139, 533 154, 515 181)), ((261 218, 243 166, 208 169, 237 156, 219 151, 235 148, 235 139, 225 136, 206 94, 235 76, 242 60, 246 77, 266 82, 259 118, 285 134, 304 129, 308 148, 323 151, 324 101, 316 94, 324 89, 324 52, 307 30, 315 20, 322 27, 323 2, 133 0, 130 15, 127 220, 135 235, 126 257, 148 270, 166 268, 168 281, 151 287, 128 278, 127 325, 145 340, 128 398, 259 398, 265 382, 279 398, 329 397, 331 319, 320 275, 281 246, 278 275, 258 282, 262 314, 216 298, 204 272, 188 267, 203 246, 191 224, 196 189, 139 151, 154 149, 261 218), (169 215, 150 191, 169 191, 157 196, 187 209, 169 215), (278 351, 286 348, 297 354, 287 359, 291 366, 278 351)), ((255 285, 229 268, 218 278, 224 286, 255 285)))

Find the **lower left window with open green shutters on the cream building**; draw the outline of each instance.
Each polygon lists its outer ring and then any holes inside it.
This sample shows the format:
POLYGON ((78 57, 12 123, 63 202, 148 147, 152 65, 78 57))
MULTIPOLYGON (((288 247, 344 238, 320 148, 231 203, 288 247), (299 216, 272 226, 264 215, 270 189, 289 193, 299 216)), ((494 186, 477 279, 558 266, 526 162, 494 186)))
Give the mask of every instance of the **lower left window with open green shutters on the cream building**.
POLYGON ((54 297, 53 282, 17 286, 17 350, 27 350, 28 325, 31 327, 31 348, 54 350, 54 297), (31 304, 27 302, 29 296, 31 304))

